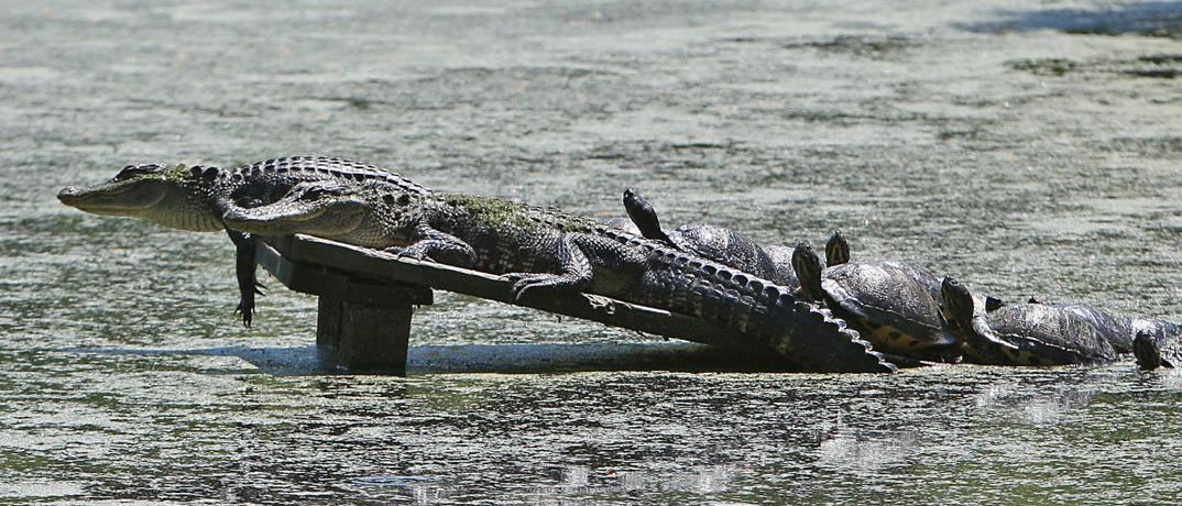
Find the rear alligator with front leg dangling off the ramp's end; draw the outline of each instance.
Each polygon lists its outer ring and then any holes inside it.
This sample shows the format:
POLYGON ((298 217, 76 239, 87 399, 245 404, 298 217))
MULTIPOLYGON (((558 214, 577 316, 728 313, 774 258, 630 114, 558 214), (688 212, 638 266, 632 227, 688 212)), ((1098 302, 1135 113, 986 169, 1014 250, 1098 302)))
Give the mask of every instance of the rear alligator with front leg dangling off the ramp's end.
MULTIPOLYGON (((342 158, 294 156, 273 158, 234 169, 145 163, 124 167, 110 181, 79 188, 66 187, 58 200, 87 213, 134 216, 169 228, 216 232, 225 227, 229 209, 271 203, 299 182, 333 181, 361 184, 381 181, 402 192, 424 194, 426 187, 389 170, 342 158)), ((251 326, 254 296, 261 285, 254 273, 254 239, 226 228, 236 249, 239 304, 242 323, 251 326)))

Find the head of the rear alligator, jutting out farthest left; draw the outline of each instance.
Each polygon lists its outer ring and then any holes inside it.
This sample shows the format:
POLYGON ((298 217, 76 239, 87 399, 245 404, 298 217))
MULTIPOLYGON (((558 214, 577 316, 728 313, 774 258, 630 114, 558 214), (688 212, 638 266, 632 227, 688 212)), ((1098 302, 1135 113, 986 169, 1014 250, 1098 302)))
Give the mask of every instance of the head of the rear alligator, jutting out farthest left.
POLYGON ((93 214, 141 218, 183 231, 220 231, 221 222, 197 186, 202 175, 200 167, 183 164, 128 166, 104 183, 65 187, 58 200, 93 214))

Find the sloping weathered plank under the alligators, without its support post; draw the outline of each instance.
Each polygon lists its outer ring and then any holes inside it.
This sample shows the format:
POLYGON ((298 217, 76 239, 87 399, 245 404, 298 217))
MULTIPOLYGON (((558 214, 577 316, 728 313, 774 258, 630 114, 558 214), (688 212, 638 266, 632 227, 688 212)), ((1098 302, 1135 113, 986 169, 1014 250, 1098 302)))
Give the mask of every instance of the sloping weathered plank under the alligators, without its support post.
MULTIPOLYGON (((291 264, 331 266, 336 272, 358 277, 429 286, 431 288, 465 293, 506 304, 515 304, 511 294, 513 281, 501 275, 443 264, 398 258, 390 253, 306 235, 266 238, 265 241, 273 248, 274 257, 285 259, 291 264)), ((274 265, 277 261, 269 258, 265 259, 264 257, 266 255, 260 255, 260 261, 264 266, 268 266, 268 271, 272 271, 269 265, 274 265)), ((285 272, 281 266, 279 272, 285 272)), ((277 277, 284 284, 293 279, 290 274, 277 277)), ((695 343, 752 348, 740 336, 735 336, 733 331, 725 326, 684 314, 600 296, 572 293, 547 297, 540 300, 531 299, 520 305, 695 343)))

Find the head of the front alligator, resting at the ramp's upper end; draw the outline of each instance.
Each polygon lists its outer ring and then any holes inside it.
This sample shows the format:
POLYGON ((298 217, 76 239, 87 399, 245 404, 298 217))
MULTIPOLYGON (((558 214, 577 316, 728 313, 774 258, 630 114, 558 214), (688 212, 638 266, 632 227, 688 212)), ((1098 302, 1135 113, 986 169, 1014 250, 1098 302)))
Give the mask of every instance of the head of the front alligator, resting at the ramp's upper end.
POLYGON ((309 181, 266 206, 233 206, 222 215, 226 226, 260 235, 309 234, 346 236, 374 210, 356 187, 333 181, 309 181))

